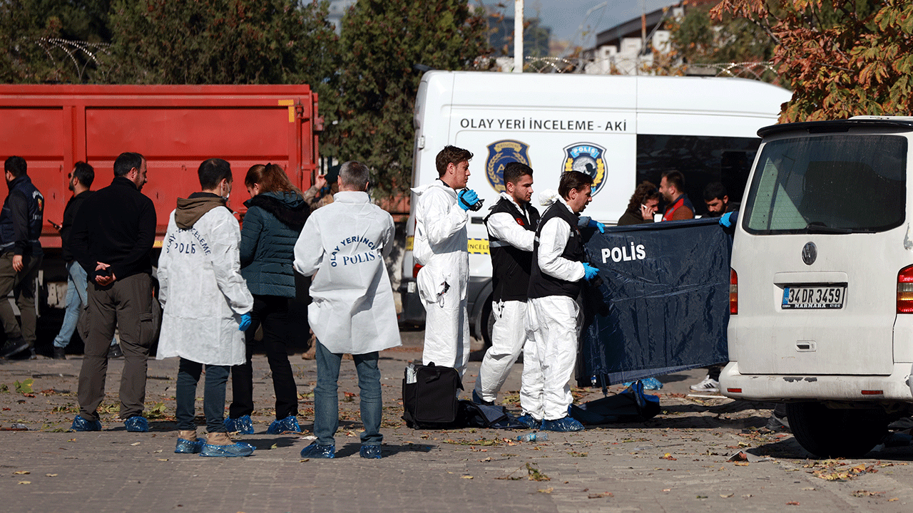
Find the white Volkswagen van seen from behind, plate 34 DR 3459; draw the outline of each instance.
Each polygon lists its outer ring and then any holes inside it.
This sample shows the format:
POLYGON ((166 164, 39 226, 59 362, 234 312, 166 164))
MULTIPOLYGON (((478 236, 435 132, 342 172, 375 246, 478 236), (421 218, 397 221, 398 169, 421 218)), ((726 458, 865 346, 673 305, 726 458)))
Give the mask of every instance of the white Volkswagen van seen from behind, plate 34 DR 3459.
POLYGON ((720 389, 786 402, 814 455, 863 455, 913 401, 913 118, 758 133, 733 240, 720 389))

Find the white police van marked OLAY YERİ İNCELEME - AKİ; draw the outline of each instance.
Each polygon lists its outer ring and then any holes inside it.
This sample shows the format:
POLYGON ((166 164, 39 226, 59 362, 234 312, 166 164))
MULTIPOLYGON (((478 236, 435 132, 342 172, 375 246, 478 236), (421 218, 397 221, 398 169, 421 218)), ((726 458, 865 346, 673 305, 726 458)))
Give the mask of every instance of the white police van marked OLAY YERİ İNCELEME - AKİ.
MULTIPOLYGON (((685 174, 687 193, 706 212, 707 183, 727 185, 738 201, 761 140, 791 93, 747 79, 430 71, 415 99, 413 186, 437 178, 447 144, 474 153, 469 188, 485 200, 470 212, 470 328, 490 343, 491 260, 483 219, 504 190, 506 162, 529 164, 533 189, 558 189, 567 169, 593 175, 584 215, 614 225, 635 185, 660 173, 685 174)), ((536 202, 538 194, 533 194, 536 202)), ((412 201, 415 207, 415 198, 412 201)), ((542 212, 540 208, 540 213, 542 212)), ((401 321, 425 322, 412 258, 415 210, 406 227, 401 321)))

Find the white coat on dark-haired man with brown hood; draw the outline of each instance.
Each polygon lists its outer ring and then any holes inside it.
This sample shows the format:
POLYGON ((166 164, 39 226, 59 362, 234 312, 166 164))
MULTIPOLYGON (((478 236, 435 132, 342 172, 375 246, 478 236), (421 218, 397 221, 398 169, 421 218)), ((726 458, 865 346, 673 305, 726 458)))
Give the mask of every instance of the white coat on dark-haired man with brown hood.
POLYGON ((218 206, 186 230, 174 212, 159 257, 159 302, 164 309, 158 360, 180 356, 207 365, 246 360, 241 314, 254 298, 241 277, 241 230, 235 216, 218 206))

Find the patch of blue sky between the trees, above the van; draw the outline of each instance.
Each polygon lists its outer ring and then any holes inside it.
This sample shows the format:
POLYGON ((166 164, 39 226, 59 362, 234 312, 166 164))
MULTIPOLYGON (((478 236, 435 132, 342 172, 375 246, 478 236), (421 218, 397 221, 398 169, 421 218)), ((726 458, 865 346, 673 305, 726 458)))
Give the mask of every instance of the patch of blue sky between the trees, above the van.
MULTIPOLYGON (((504 14, 513 16, 513 0, 484 0, 484 3, 491 6, 503 4, 504 14)), ((525 0, 523 13, 527 17, 538 16, 542 26, 550 26, 553 39, 576 39, 572 42, 582 47, 592 47, 595 35, 606 28, 640 16, 643 10, 650 13, 677 3, 672 0, 525 0), (603 2, 606 4, 604 8, 596 9, 589 17, 586 16, 587 11, 603 2), (589 26, 593 32, 582 40, 577 33, 584 20, 585 26, 589 26)))

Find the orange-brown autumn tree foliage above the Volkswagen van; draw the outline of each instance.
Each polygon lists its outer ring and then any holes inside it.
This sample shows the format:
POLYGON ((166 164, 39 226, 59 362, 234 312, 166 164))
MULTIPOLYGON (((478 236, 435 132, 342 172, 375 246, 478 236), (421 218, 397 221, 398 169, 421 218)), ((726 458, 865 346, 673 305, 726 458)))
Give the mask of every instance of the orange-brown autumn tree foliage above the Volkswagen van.
POLYGON ((792 100, 780 120, 908 115, 913 110, 913 4, 902 0, 723 0, 777 40, 771 60, 792 100))

